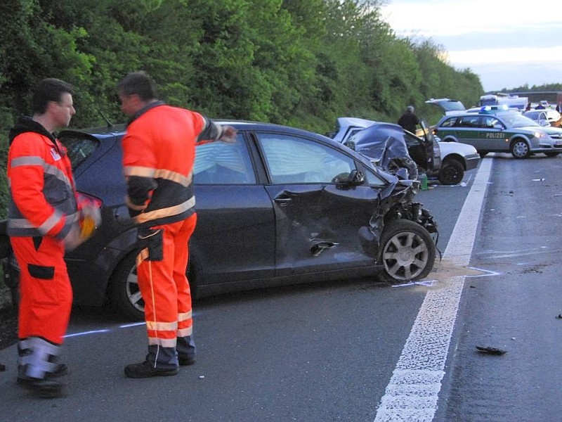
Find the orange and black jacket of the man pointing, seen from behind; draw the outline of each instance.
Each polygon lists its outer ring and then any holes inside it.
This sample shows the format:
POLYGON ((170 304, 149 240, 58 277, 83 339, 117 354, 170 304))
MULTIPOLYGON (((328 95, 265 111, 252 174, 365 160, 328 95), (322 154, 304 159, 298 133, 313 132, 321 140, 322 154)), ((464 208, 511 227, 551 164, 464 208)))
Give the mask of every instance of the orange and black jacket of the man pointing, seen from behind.
POLYGON ((127 205, 137 224, 155 226, 193 214, 195 144, 208 126, 199 113, 150 103, 122 140, 127 205), (162 128, 162 130, 160 130, 162 128))

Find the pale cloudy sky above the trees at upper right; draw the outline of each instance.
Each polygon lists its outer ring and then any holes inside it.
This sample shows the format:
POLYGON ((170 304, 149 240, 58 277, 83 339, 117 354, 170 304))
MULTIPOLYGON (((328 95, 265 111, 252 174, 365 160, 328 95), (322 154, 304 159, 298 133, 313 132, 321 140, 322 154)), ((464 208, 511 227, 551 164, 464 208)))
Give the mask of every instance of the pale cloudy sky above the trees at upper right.
POLYGON ((562 83, 562 1, 384 0, 398 37, 432 39, 485 91, 562 83))

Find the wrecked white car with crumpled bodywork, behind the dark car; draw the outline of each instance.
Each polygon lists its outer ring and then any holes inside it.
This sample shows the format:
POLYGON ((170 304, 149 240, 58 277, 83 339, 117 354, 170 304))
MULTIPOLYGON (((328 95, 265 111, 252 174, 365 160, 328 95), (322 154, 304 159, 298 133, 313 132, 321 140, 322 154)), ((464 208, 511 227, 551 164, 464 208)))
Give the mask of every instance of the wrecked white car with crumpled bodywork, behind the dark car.
POLYGON ((441 142, 437 137, 433 139, 433 136, 431 136, 431 139, 421 139, 419 136, 402 129, 398 124, 375 122, 374 120, 360 119, 357 117, 339 117, 336 122, 336 132, 331 134, 331 137, 338 142, 351 146, 351 144, 353 144, 353 135, 374 124, 380 125, 381 136, 384 138, 391 132, 394 132, 396 136, 402 133, 402 136, 406 138, 405 142, 409 146, 408 149, 412 159, 417 162, 419 167, 422 167, 428 175, 436 174, 441 184, 459 184, 464 178, 464 172, 478 167, 480 155, 478 155, 476 148, 473 146, 459 142, 441 142), (417 141, 412 143, 412 139, 417 139, 417 141), (414 151, 412 151, 410 146, 416 143, 432 143, 435 145, 432 148, 416 148, 414 146, 414 151), (421 149, 425 149, 426 151, 431 151, 433 149, 433 157, 424 157, 420 160, 419 151, 421 149), (435 151, 436 149, 438 149, 438 151, 435 151), (428 162, 430 163, 429 165, 427 165, 428 162))

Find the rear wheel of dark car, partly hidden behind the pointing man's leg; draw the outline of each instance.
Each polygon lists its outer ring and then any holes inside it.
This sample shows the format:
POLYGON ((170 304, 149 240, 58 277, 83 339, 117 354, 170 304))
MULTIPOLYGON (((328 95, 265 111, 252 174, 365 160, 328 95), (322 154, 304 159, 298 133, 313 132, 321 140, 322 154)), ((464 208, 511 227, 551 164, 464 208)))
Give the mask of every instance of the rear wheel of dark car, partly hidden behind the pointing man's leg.
POLYGON ((117 311, 135 321, 145 315, 145 302, 138 288, 136 277, 136 251, 119 262, 111 277, 111 305, 117 311))

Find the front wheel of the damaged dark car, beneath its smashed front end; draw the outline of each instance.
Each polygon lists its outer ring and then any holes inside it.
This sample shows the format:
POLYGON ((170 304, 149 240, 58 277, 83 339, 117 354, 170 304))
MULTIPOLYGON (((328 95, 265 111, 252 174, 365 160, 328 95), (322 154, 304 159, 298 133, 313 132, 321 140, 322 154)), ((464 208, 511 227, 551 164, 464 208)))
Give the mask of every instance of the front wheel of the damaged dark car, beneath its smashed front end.
POLYGON ((379 262, 382 279, 403 282, 423 279, 435 263, 436 246, 429 232, 417 223, 397 219, 388 223, 381 236, 379 262))

